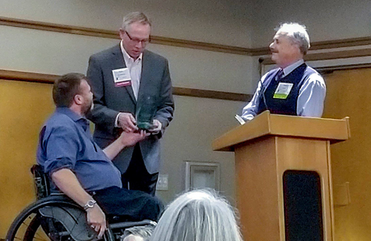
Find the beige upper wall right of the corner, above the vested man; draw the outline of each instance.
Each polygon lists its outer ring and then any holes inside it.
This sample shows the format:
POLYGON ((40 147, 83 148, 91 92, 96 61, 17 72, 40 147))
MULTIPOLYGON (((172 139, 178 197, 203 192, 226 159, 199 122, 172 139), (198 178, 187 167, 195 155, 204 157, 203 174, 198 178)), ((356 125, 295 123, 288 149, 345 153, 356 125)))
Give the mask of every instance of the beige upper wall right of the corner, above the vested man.
POLYGON ((254 47, 267 47, 274 28, 285 22, 306 25, 311 41, 371 35, 369 0, 257 0, 254 9, 254 47))

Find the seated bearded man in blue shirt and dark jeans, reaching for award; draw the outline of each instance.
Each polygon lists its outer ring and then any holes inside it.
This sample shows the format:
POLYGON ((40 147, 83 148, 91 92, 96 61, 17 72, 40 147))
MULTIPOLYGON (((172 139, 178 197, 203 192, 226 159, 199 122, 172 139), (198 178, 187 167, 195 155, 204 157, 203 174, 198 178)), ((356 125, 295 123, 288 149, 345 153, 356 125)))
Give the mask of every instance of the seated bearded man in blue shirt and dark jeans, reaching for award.
POLYGON ((85 116, 93 92, 85 75, 69 73, 53 86, 56 111, 40 132, 37 163, 49 175, 52 192, 63 192, 86 210, 88 224, 102 237, 106 214, 131 221, 158 221, 163 204, 156 197, 122 188, 114 156, 146 138, 144 131, 123 132, 104 150, 93 141, 85 116))

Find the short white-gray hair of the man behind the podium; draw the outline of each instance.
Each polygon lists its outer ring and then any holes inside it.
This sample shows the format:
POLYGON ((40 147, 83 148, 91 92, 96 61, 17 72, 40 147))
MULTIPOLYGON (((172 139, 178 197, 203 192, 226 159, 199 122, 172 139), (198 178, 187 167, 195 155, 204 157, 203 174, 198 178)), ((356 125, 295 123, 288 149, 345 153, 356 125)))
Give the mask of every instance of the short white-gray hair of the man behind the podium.
POLYGON ((295 44, 298 44, 302 54, 307 54, 308 49, 310 49, 310 38, 305 25, 300 25, 299 23, 283 23, 283 25, 276 30, 277 33, 281 32, 281 34, 290 37, 295 44))

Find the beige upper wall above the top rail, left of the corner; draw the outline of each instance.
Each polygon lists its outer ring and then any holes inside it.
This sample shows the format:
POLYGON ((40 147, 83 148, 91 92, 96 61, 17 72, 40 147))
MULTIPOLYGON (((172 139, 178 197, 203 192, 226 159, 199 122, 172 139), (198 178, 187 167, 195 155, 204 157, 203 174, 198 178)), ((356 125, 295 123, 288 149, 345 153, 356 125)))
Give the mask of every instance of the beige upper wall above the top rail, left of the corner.
POLYGON ((0 16, 117 30, 122 16, 143 11, 153 35, 249 47, 252 8, 244 0, 0 0, 0 16))

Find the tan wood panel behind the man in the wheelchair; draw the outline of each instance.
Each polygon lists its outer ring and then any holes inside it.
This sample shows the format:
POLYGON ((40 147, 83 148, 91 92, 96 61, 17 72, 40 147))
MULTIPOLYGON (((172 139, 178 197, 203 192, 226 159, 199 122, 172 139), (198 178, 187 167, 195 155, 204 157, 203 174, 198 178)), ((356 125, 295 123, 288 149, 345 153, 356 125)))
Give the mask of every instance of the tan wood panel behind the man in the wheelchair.
POLYGON ((42 123, 54 111, 52 85, 0 80, 0 237, 35 200, 30 167, 42 123))

